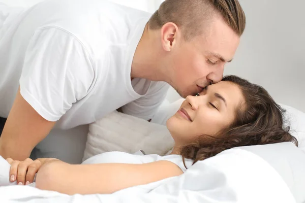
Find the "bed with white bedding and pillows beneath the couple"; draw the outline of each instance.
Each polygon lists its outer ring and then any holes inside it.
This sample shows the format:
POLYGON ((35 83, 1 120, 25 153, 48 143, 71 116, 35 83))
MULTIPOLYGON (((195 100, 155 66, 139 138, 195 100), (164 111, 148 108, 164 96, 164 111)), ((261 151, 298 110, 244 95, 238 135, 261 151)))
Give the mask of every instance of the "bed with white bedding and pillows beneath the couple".
MULTIPOLYGON (((164 104, 157 114, 159 121, 162 122, 172 114, 168 112, 169 109, 176 111, 180 103, 181 100, 164 104), (167 110, 166 113, 164 109, 167 110)), ((0 187, 0 197, 2 202, 303 203, 305 201, 303 189, 305 188, 305 127, 302 124, 305 123, 305 114, 294 108, 282 106, 288 110, 291 126, 296 129, 294 136, 300 143, 299 148, 292 143, 233 148, 215 157, 199 161, 179 177, 127 188, 107 195, 69 196, 29 186, 12 185, 0 187)), ((166 153, 172 144, 169 137, 164 125, 148 123, 133 116, 112 112, 90 125, 83 159, 111 150, 133 153, 138 148, 149 153, 166 153), (135 131, 135 123, 137 131, 135 131), (111 134, 109 128, 113 129, 110 130, 111 134), (125 132, 124 137, 121 136, 121 130, 125 132), (157 137, 158 134, 164 136, 157 137), (117 139, 118 136, 120 139, 117 139), (135 147, 134 143, 140 136, 142 142, 135 147), (121 145, 126 143, 125 141, 129 141, 129 144, 121 145), (165 141, 168 145, 164 145, 165 141), (97 148, 97 146, 101 147, 97 148)), ((0 164, 2 165, 1 185, 4 179, 8 182, 9 164, 5 163, 5 160, 0 161, 0 164), (4 168, 7 170, 5 171, 4 168)))

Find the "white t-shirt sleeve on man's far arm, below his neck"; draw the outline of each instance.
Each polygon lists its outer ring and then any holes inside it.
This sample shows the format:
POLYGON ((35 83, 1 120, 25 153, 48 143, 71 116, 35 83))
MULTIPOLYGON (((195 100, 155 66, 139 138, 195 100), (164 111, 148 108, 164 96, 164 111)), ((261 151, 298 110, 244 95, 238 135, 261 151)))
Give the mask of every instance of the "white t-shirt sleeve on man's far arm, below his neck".
POLYGON ((169 85, 165 82, 154 82, 144 96, 123 106, 123 112, 145 120, 153 118, 164 101, 168 88, 169 85))

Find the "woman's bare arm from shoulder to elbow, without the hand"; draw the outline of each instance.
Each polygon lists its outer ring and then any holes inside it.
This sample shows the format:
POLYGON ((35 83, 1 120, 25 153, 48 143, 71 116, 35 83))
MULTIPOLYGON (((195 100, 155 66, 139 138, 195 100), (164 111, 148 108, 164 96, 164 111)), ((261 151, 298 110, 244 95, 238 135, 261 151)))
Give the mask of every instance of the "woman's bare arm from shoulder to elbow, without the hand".
POLYGON ((106 194, 181 174, 181 169, 170 161, 71 165, 51 160, 38 171, 36 187, 71 195, 106 194))

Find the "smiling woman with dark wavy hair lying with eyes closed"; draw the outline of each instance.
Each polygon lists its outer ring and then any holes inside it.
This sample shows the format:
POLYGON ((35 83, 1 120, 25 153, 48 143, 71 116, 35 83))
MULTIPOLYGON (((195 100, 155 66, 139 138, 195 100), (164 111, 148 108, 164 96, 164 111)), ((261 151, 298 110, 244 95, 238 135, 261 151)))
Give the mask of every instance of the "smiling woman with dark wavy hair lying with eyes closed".
POLYGON ((171 155, 108 152, 71 165, 57 159, 7 159, 19 184, 67 194, 112 193, 179 176, 188 167, 238 146, 297 141, 283 128, 283 113, 265 89, 227 76, 197 96, 188 96, 167 121, 175 145, 171 155), (141 164, 139 164, 141 163, 141 164))

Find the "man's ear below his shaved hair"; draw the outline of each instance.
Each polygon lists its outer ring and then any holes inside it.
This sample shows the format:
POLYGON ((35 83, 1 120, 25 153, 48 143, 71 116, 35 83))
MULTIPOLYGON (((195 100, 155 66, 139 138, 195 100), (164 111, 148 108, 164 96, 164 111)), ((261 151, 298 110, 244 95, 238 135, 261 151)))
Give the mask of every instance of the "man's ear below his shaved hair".
POLYGON ((171 51, 178 38, 179 28, 175 23, 165 23, 161 28, 162 47, 165 51, 171 51))

